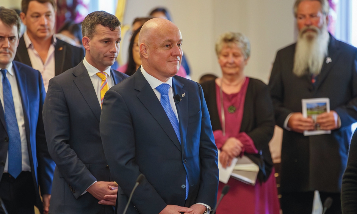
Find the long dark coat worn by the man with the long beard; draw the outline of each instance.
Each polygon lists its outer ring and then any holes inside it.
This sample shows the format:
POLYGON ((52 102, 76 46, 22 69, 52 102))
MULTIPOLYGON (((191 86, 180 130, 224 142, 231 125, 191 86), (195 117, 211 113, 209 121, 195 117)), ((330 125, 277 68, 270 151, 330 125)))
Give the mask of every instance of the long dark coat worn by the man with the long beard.
MULTIPOLYGON (((303 98, 330 98, 330 109, 341 118, 341 128, 331 134, 303 136, 283 131, 281 190, 340 192, 347 164, 351 124, 357 121, 357 49, 330 35, 328 57, 315 86, 311 76, 293 74, 296 44, 277 52, 270 77, 276 124, 292 112, 302 112, 303 98)), ((326 58, 325 58, 326 60, 326 58)))

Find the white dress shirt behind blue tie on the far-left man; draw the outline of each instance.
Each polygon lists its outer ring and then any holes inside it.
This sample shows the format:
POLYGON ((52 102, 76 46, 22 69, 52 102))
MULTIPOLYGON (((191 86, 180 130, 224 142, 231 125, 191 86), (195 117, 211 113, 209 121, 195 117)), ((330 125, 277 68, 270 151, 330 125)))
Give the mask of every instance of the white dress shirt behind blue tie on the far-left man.
MULTIPOLYGON (((11 85, 12 99, 14 100, 17 124, 19 125, 20 139, 21 139, 22 171, 31 171, 29 151, 27 150, 24 110, 22 109, 21 96, 20 96, 19 88, 17 87, 16 76, 15 76, 14 68, 12 68, 12 63, 10 63, 10 65, 7 66, 5 69, 7 70, 6 77, 11 85)), ((0 72, 0 80, 1 80, 0 100, 1 100, 2 109, 4 110, 5 113, 1 72, 0 72)), ((8 167, 9 167, 9 152, 7 152, 7 156, 6 156, 4 173, 8 172, 8 167)))

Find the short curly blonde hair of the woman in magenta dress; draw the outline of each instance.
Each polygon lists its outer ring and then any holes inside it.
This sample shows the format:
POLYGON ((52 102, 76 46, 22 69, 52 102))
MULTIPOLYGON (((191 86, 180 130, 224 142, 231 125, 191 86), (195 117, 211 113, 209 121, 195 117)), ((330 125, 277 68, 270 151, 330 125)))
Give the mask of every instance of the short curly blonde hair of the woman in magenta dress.
POLYGON ((216 54, 219 56, 225 45, 230 46, 236 44, 242 51, 244 58, 247 59, 250 56, 250 42, 248 37, 241 33, 225 32, 220 35, 216 41, 216 54))

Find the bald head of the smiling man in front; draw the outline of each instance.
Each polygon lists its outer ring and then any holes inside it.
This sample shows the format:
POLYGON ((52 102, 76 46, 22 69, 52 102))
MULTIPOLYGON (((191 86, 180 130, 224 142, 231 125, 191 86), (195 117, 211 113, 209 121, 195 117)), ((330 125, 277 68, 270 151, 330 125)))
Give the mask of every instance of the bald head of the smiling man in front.
POLYGON ((182 36, 169 20, 155 18, 142 26, 139 49, 142 67, 162 82, 176 75, 181 65, 182 36))

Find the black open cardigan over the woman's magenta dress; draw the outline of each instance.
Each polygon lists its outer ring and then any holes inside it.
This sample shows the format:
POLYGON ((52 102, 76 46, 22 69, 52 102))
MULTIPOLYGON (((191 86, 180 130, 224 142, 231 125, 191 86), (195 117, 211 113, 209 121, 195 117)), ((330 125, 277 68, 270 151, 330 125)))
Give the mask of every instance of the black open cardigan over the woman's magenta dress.
MULTIPOLYGON (((211 117, 213 131, 221 130, 217 109, 215 80, 202 83, 202 89, 211 117)), ((241 132, 252 138, 259 154, 245 154, 259 166, 258 179, 265 182, 272 171, 273 161, 269 141, 274 133, 274 111, 269 88, 260 80, 250 78, 243 110, 241 132)))

